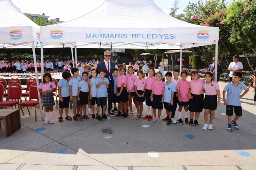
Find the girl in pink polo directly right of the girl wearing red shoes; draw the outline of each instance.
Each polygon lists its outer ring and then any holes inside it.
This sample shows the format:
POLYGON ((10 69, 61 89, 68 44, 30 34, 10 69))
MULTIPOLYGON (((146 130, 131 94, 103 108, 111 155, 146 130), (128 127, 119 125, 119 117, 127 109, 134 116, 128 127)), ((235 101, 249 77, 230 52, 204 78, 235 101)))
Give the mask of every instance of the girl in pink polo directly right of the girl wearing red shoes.
POLYGON ((161 123, 161 112, 163 110, 163 103, 164 103, 164 82, 162 81, 163 75, 161 72, 156 73, 157 81, 154 81, 152 84, 152 92, 150 100, 152 102, 152 109, 154 113, 153 122, 154 123, 161 123), (157 109, 158 109, 158 118, 157 116, 157 109))

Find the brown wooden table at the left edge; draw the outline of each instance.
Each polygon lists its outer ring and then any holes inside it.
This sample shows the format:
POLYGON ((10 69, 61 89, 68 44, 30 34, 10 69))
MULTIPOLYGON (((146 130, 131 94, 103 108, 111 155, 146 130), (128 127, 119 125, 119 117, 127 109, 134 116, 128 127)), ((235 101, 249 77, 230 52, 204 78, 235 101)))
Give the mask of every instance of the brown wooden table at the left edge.
POLYGON ((5 137, 11 136, 21 127, 19 109, 0 109, 0 120, 4 120, 5 123, 5 137))

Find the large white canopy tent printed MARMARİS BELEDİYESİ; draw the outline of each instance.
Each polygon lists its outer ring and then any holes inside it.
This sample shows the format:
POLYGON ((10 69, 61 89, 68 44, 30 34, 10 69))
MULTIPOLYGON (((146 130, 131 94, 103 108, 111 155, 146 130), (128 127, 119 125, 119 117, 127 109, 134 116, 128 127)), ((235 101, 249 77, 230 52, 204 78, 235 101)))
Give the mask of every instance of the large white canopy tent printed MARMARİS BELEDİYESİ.
POLYGON ((216 63, 218 61, 218 27, 194 25, 173 18, 153 0, 105 0, 81 17, 41 26, 40 33, 44 43, 75 47, 76 60, 76 49, 82 46, 182 51, 184 48, 216 44, 216 63))

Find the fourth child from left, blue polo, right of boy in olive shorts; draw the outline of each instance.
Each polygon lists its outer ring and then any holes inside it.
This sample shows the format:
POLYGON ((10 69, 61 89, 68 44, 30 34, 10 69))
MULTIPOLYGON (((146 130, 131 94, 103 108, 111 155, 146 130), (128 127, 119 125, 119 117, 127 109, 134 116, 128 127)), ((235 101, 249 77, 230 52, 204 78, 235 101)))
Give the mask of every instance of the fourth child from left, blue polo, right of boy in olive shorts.
POLYGON ((80 120, 89 119, 89 117, 86 115, 86 105, 88 104, 88 101, 90 99, 90 85, 87 82, 88 79, 88 73, 83 72, 82 73, 83 80, 79 82, 78 84, 78 101, 80 101, 80 120), (82 117, 82 110, 84 107, 84 116, 82 117))

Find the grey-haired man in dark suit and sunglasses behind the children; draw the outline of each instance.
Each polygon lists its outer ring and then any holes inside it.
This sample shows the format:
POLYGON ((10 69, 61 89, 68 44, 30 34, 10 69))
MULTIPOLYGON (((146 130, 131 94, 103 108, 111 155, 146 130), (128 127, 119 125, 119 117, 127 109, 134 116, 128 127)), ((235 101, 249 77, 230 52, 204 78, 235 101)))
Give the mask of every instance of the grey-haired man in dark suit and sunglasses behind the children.
MULTIPOLYGON (((104 60, 99 62, 96 68, 97 74, 99 73, 99 70, 102 68, 106 70, 105 78, 109 79, 109 88, 108 88, 108 113, 110 116, 115 116, 114 113, 111 111, 113 106, 113 95, 114 95, 114 79, 113 79, 113 71, 115 67, 115 63, 113 61, 110 61, 111 58, 111 52, 105 51, 104 52, 104 60)), ((92 76, 89 77, 91 79, 92 76)))

